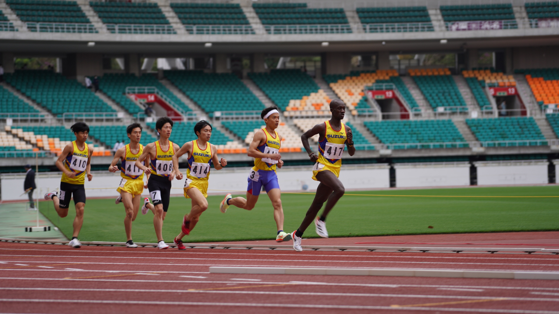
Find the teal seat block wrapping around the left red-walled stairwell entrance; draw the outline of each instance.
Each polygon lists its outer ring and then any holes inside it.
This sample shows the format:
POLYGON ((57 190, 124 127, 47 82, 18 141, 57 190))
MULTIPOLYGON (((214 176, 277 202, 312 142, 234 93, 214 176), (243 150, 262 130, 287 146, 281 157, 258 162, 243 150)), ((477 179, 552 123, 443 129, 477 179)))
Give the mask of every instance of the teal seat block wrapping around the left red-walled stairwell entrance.
POLYGON ((159 92, 163 93, 174 102, 178 109, 184 112, 192 111, 190 107, 169 91, 169 89, 160 83, 157 77, 152 74, 144 74, 141 75, 141 77, 136 77, 134 74, 105 74, 99 79, 99 87, 104 93, 111 97, 113 101, 119 103, 132 115, 143 112, 144 110, 126 96, 126 87, 155 87, 159 92))

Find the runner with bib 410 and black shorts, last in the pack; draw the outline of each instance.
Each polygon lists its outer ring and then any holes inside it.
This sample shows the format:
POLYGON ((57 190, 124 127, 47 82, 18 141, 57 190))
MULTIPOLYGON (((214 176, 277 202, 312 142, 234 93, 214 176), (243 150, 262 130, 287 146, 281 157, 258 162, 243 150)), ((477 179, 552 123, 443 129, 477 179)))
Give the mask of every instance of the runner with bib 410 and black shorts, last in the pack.
POLYGON ((91 174, 91 151, 86 144, 89 126, 86 123, 77 122, 70 127, 70 130, 74 132, 75 141, 64 147, 55 163, 56 167, 62 172, 60 194, 56 189, 53 192, 46 193, 45 199, 52 199, 56 213, 64 218, 68 216, 70 199, 72 195, 74 196, 74 232, 68 245, 72 248, 79 248, 82 244, 78 240, 78 235, 82 229, 83 211, 86 206, 86 189, 84 189, 83 184, 86 181, 86 175, 88 181, 91 181, 93 175, 91 174))

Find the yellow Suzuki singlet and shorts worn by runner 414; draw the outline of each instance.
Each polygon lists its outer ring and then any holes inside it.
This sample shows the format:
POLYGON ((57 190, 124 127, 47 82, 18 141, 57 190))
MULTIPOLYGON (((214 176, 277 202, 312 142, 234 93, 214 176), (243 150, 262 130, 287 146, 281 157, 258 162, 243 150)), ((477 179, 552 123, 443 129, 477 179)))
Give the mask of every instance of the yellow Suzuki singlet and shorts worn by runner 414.
POLYGON ((202 149, 198 146, 198 140, 192 141, 192 155, 188 158, 187 179, 184 182, 184 197, 189 198, 187 191, 191 188, 197 188, 207 197, 211 158, 210 142, 206 142, 206 147, 202 149))

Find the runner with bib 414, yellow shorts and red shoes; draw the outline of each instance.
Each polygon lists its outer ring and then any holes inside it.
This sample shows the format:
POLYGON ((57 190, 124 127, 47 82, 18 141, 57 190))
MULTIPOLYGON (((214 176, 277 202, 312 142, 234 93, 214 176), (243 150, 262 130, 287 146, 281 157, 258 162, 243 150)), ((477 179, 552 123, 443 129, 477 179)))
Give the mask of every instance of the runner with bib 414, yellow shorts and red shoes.
POLYGON ((197 140, 184 143, 182 148, 173 156, 173 175, 177 180, 182 180, 183 174, 178 170, 178 159, 184 154, 188 156, 188 169, 186 169, 186 180, 184 181, 184 197, 192 199, 190 213, 184 215, 181 233, 175 237, 174 242, 179 250, 186 250, 182 244, 182 238, 190 234, 194 229, 202 212, 207 210, 208 178, 210 177, 210 166, 213 163, 216 170, 223 169, 227 160, 217 159, 217 148, 210 144, 212 127, 209 122, 201 120, 194 126, 197 140))

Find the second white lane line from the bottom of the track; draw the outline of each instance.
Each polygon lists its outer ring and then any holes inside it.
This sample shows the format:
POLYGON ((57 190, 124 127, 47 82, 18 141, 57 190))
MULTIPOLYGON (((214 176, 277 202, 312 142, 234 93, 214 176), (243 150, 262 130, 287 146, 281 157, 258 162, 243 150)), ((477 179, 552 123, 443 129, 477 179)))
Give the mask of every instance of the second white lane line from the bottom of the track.
MULTIPOLYGON (((235 283, 237 284, 237 283, 235 283)), ((293 286, 296 286, 295 284, 293 286)), ((290 288, 295 290, 296 287, 290 288)), ((448 296, 438 294, 389 294, 389 293, 342 293, 342 292, 283 292, 283 291, 217 291, 217 290, 181 290, 181 289, 97 289, 97 288, 12 288, 0 287, 0 290, 18 291, 91 291, 91 292, 145 292, 145 293, 221 293, 221 294, 272 294, 292 296, 294 293, 302 296, 329 297, 382 297, 382 298, 430 298, 430 299, 495 299, 506 298, 510 301, 538 301, 559 302, 559 298, 523 298, 523 297, 480 297, 480 296, 448 296)))

